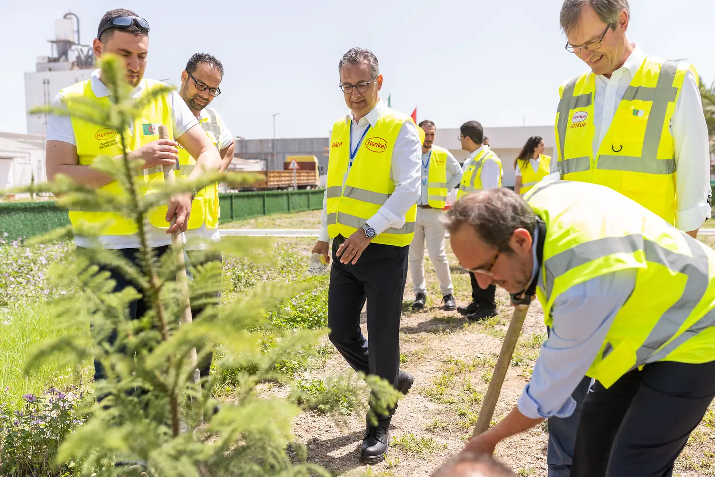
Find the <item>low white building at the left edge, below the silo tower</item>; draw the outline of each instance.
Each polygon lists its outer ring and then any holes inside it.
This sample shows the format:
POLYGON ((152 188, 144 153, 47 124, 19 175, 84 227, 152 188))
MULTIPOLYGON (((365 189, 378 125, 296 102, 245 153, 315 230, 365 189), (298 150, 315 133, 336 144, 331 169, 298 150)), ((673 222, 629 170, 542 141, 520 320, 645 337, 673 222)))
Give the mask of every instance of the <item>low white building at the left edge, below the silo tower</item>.
POLYGON ((45 182, 44 137, 0 132, 0 190, 45 182))

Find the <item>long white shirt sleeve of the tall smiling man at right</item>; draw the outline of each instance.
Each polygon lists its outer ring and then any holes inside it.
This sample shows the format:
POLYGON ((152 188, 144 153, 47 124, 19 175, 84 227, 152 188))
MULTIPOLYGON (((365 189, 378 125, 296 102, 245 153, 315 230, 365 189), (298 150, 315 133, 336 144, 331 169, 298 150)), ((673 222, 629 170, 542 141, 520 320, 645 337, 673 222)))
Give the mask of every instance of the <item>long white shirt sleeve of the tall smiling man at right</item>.
POLYGON ((710 149, 700 91, 685 75, 673 116, 676 164, 676 227, 696 230, 711 215, 710 149))

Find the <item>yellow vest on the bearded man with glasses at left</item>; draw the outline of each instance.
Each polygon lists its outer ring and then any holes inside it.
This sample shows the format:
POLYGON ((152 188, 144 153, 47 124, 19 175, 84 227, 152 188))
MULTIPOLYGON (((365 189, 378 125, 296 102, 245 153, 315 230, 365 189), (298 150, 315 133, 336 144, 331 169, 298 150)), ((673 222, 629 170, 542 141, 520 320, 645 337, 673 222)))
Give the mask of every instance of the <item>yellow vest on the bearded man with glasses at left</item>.
MULTIPOLYGON (((205 108, 204 111, 207 112, 207 117, 202 117, 199 120, 199 125, 204 129, 216 149, 219 149, 221 117, 211 108, 205 108)), ((177 177, 181 176, 184 179, 189 177, 195 165, 196 160, 179 144, 179 170, 176 171, 177 177)), ((194 197, 187 229, 197 229, 204 224, 210 229, 215 229, 219 226, 220 216, 218 184, 209 185, 199 190, 194 197)))

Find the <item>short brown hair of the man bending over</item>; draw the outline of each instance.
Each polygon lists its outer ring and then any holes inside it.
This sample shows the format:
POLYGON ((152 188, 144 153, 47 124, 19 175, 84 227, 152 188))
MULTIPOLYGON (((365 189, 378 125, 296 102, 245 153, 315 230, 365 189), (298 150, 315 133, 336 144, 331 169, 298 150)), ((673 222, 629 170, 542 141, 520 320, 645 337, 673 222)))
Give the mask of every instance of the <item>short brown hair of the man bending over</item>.
POLYGON ((511 252, 509 239, 516 229, 531 232, 536 214, 523 198, 511 189, 479 190, 462 197, 447 212, 446 227, 454 232, 462 225, 474 227, 486 245, 511 252))

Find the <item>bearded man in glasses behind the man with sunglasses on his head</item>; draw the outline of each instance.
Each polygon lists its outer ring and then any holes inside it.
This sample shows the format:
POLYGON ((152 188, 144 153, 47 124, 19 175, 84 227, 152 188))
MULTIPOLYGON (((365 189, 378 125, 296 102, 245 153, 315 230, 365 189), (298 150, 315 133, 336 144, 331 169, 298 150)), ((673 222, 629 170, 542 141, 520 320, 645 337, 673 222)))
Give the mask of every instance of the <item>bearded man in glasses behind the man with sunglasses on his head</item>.
MULTIPOLYGON (((221 172, 224 172, 233 160, 233 152, 236 148, 231 131, 226 127, 222 118, 215 109, 208 105, 221 94, 221 82, 224 75, 223 64, 215 57, 207 53, 196 53, 186 64, 186 68, 181 74, 182 86, 179 89, 179 96, 187 104, 194 117, 198 120, 199 126, 206 132, 209 140, 220 152, 222 165, 221 172)), ((196 162, 191 154, 179 144, 179 167, 184 175, 191 173, 196 162)), ((192 267, 204 265, 215 261, 222 262, 222 257, 218 255, 207 255, 205 250, 209 242, 221 240, 219 233, 219 191, 218 184, 204 187, 197 191, 194 202, 191 206, 192 213, 189 216, 187 230, 184 233, 187 243, 184 250, 192 267)), ((202 312, 202 307, 192 306, 192 315, 198 316, 202 312)), ((202 378, 208 378, 211 369, 212 353, 207 354, 199 362, 199 373, 202 378)))

